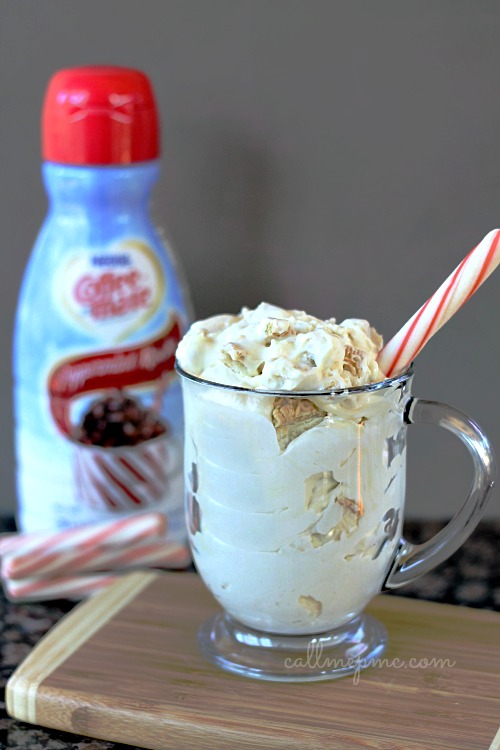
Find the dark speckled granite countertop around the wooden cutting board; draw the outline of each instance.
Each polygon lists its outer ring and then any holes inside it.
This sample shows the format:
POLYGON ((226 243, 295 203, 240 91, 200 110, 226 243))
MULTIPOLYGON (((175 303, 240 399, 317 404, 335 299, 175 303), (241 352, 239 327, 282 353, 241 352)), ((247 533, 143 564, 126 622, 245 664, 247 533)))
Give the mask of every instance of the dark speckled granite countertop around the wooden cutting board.
MULTIPOLYGON (((443 524, 411 522, 406 537, 420 543, 443 524)), ((1 520, 0 520, 1 526, 1 520)), ((5 526, 0 529, 5 530, 5 526)), ((479 607, 500 612, 500 521, 484 521, 472 537, 447 562, 413 584, 391 592, 457 606, 479 607)), ((30 649, 74 606, 69 601, 13 604, 0 595, 0 647, 2 688, 30 649)), ((2 696, 3 698, 3 696, 2 696)), ((7 716, 1 702, 0 747, 19 750, 119 750, 130 746, 79 737, 56 730, 23 724, 7 716)))

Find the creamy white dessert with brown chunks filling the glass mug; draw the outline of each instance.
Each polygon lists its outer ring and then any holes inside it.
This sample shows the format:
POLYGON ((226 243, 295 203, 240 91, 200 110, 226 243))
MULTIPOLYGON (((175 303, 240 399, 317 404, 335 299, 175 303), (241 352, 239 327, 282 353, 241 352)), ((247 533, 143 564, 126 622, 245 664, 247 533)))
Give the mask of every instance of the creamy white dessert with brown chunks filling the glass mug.
POLYGON ((266 303, 197 322, 179 345, 195 562, 248 627, 331 630, 380 591, 403 517, 410 379, 379 387, 381 347, 365 320, 266 303))

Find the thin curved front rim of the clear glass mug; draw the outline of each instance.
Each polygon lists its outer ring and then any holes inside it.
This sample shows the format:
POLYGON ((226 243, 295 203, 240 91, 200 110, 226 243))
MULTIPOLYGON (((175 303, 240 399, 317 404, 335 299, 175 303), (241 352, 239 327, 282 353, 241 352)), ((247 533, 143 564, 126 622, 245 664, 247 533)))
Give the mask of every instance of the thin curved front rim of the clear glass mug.
POLYGON ((267 388, 247 388, 240 385, 229 385, 228 383, 217 383, 213 380, 206 380, 205 378, 200 378, 198 375, 193 375, 192 373, 184 370, 177 359, 175 360, 175 370, 182 378, 190 380, 193 383, 198 383, 199 385, 206 385, 209 388, 220 388, 223 390, 234 391, 236 393, 248 395, 259 394, 261 396, 274 396, 276 398, 283 396, 286 396, 288 398, 317 398, 319 396, 350 396, 359 393, 374 393, 386 388, 400 386, 411 380, 414 374, 414 367, 412 362, 409 367, 399 375, 395 375, 391 378, 385 378, 384 380, 377 380, 375 383, 367 383, 366 385, 354 385, 346 388, 338 387, 326 388, 323 390, 292 391, 287 390, 286 388, 273 390, 267 388))

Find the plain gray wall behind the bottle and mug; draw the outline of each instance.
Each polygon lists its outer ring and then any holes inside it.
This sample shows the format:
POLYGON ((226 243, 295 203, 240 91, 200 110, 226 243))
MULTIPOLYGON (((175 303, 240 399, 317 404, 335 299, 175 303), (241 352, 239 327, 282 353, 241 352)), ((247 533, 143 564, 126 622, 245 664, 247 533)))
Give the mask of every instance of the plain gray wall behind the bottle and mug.
MULTIPOLYGON (((57 69, 139 67, 162 117, 167 224, 199 317, 261 299, 390 337, 500 224, 497 0, 0 0, 0 512, 14 508, 11 331, 45 213, 57 69)), ((500 447, 500 272, 418 358, 415 392, 500 447)), ((408 514, 465 496, 465 450, 410 437, 408 514)), ((490 516, 500 516, 498 490, 490 516)))

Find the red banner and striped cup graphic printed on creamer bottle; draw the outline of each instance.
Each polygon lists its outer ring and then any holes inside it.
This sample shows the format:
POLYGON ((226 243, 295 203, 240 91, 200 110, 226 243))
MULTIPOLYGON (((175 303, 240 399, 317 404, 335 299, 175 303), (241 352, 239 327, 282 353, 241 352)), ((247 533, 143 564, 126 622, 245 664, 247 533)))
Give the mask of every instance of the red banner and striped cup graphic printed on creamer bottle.
POLYGON ((103 351, 60 363, 49 378, 52 416, 74 445, 79 502, 98 513, 144 510, 161 502, 181 451, 154 406, 134 395, 149 385, 159 402, 174 376, 177 322, 131 349, 103 351), (81 403, 74 423, 71 414, 81 403))

